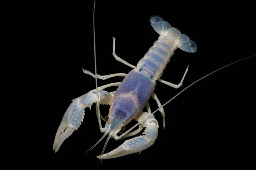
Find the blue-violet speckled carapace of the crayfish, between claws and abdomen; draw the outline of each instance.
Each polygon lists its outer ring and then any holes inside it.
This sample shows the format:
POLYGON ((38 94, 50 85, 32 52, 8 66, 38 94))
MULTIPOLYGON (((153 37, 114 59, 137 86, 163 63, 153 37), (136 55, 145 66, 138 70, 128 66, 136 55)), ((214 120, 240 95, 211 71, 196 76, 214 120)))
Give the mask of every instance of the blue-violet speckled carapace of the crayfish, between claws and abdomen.
POLYGON ((109 115, 113 115, 111 130, 124 122, 126 125, 145 107, 156 82, 135 69, 129 72, 116 90, 109 115))

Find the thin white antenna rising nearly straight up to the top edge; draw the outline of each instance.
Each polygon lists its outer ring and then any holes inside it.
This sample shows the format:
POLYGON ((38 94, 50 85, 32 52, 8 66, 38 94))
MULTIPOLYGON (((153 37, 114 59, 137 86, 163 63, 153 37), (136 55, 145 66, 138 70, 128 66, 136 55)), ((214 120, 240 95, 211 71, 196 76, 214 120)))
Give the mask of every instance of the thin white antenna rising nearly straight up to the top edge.
POLYGON ((101 120, 100 120, 100 112, 99 112, 99 94, 98 94, 98 82, 97 82, 97 66, 96 66, 96 45, 95 45, 95 24, 94 24, 94 13, 95 13, 95 3, 93 6, 93 42, 94 42, 94 66, 95 66, 95 83, 96 83, 96 95, 97 95, 97 110, 98 110, 98 121, 99 121, 99 128, 102 130, 101 120))

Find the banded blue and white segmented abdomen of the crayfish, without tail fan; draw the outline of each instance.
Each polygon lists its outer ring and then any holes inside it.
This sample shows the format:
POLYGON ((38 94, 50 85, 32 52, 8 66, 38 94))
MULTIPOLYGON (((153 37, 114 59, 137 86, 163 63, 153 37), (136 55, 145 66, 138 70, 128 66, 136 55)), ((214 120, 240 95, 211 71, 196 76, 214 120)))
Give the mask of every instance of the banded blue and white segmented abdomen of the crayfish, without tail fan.
POLYGON ((177 36, 171 30, 160 35, 158 40, 154 42, 154 45, 149 48, 145 56, 138 62, 137 71, 150 79, 157 80, 160 78, 176 50, 179 37, 179 35, 177 36))

